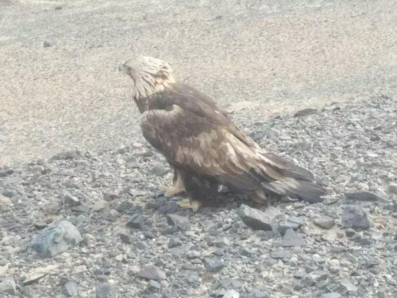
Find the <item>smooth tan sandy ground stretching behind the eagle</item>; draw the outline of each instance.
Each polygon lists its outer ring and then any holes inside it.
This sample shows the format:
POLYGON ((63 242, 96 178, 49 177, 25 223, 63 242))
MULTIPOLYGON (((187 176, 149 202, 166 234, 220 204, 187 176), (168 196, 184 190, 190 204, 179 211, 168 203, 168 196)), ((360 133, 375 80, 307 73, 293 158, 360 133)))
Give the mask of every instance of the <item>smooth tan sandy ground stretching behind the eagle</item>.
POLYGON ((141 140, 132 81, 116 70, 138 54, 170 62, 234 117, 394 96, 395 7, 394 0, 0 0, 0 164, 141 140))

